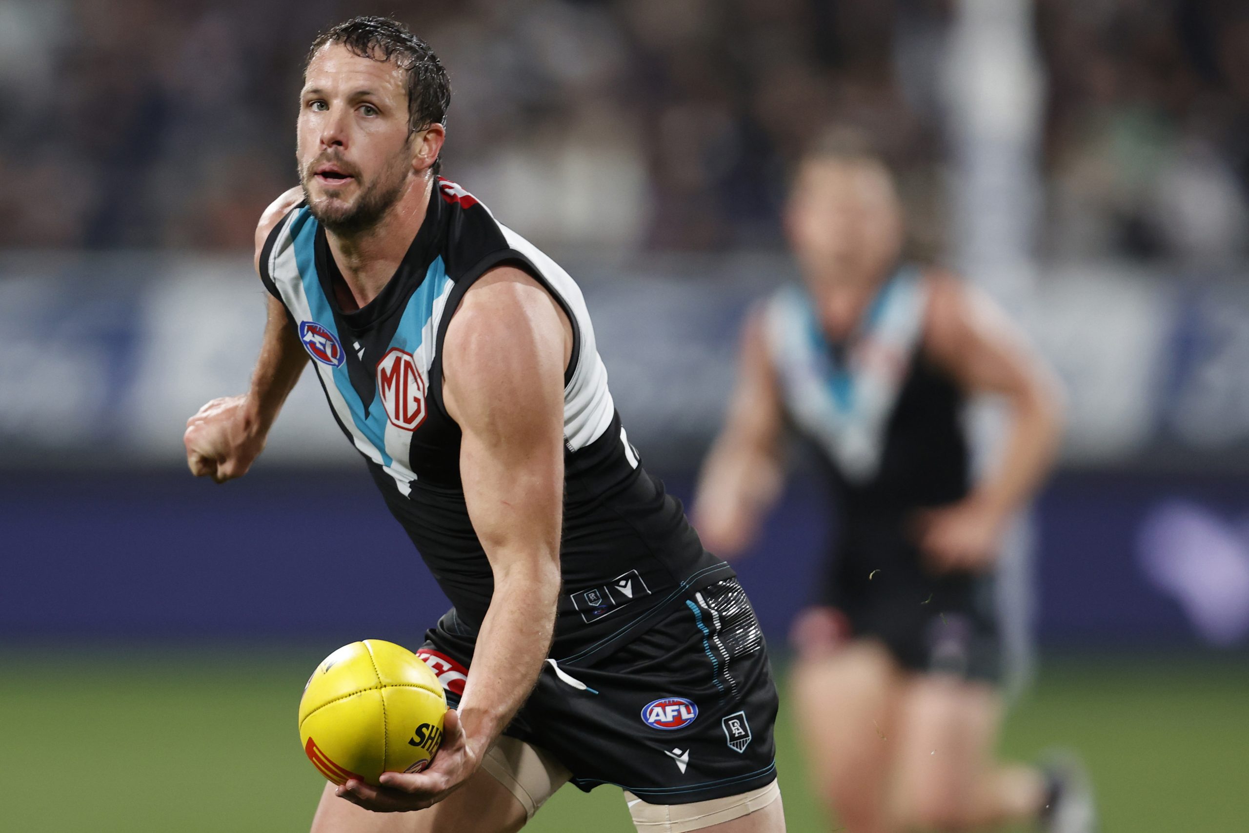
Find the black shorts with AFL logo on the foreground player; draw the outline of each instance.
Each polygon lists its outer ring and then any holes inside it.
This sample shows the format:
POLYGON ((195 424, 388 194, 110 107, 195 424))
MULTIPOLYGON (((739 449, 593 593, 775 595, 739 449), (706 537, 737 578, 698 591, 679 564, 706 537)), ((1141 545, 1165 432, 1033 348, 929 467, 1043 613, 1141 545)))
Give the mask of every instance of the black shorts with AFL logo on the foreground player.
MULTIPOLYGON (((550 752, 583 791, 617 784, 654 804, 736 796, 776 778, 777 691, 736 578, 689 591, 607 656, 548 659, 505 734, 550 752)), ((473 637, 453 612, 417 652, 452 706, 473 637)))

